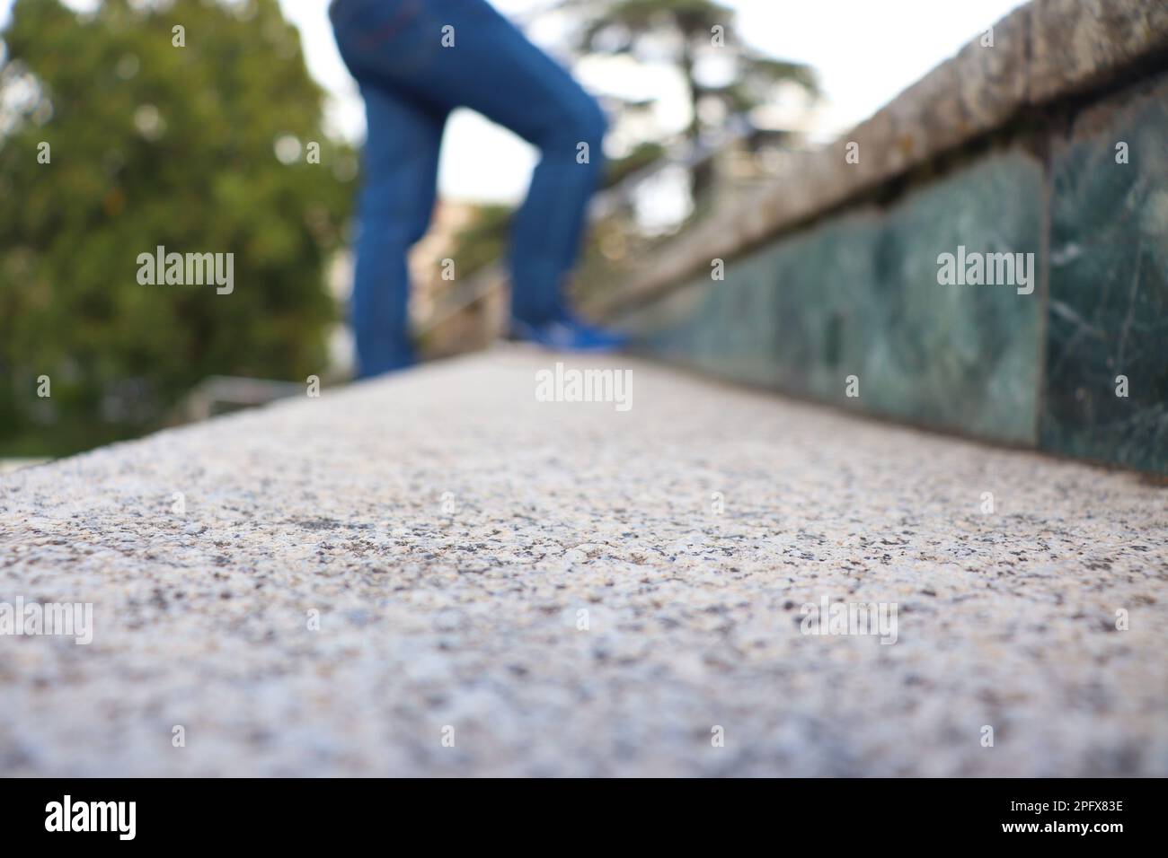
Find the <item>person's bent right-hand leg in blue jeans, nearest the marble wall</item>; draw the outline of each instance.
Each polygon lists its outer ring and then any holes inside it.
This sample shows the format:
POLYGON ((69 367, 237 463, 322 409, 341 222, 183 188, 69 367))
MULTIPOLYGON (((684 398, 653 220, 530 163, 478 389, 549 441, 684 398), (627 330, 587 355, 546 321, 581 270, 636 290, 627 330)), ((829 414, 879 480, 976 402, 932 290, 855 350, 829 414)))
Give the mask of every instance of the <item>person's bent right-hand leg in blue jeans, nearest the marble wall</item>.
POLYGON ((354 40, 350 67, 416 98, 475 110, 540 148, 513 228, 513 314, 529 325, 565 318, 564 278, 604 162, 596 99, 484 0, 390 0, 360 18, 370 35, 354 40))

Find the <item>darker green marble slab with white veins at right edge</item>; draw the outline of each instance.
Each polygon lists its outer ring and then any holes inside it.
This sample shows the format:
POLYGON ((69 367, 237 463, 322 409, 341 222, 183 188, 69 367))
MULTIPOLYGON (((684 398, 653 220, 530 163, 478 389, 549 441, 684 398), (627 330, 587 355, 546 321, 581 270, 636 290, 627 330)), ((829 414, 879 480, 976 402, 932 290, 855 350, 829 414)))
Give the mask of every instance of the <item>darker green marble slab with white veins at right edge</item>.
POLYGON ((1041 444, 1168 472, 1168 83, 1055 147, 1041 444), (1128 163, 1117 163, 1126 142, 1128 163), (1128 396, 1117 396, 1117 377, 1128 396))

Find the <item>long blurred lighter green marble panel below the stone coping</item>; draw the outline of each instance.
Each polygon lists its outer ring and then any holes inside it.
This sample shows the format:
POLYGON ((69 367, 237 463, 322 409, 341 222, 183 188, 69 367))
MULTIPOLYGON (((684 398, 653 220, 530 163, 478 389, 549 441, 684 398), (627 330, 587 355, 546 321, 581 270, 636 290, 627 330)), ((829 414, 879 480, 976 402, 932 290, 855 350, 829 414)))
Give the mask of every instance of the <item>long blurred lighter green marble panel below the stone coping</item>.
MULTIPOLYGON (((841 167, 846 168, 846 167, 841 167)), ((986 159, 785 237, 625 321, 735 381, 973 435, 1036 441, 1041 291, 938 284, 939 253, 1037 253, 1042 168, 986 159), (846 378, 858 378, 858 398, 846 378)))

